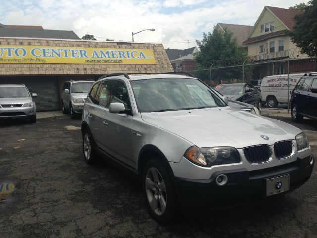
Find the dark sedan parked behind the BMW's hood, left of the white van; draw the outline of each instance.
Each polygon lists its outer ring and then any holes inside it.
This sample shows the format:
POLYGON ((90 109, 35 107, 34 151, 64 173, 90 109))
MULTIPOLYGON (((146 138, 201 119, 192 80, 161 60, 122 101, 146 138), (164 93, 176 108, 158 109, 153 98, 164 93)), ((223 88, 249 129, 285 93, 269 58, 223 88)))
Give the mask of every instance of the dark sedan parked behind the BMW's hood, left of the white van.
POLYGON ((261 112, 261 93, 250 83, 219 84, 214 89, 230 100, 255 105, 261 112))

